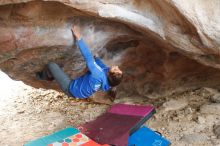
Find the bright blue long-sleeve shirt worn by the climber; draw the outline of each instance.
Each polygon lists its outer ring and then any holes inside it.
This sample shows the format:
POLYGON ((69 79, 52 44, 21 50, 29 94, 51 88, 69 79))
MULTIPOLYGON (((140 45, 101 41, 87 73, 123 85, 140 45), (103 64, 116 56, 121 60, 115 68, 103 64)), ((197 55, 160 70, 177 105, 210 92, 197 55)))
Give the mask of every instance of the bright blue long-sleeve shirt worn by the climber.
POLYGON ((89 71, 71 81, 69 92, 77 98, 88 98, 98 90, 108 91, 110 89, 107 79, 109 67, 100 58, 93 58, 83 39, 77 41, 77 46, 86 61, 89 71))

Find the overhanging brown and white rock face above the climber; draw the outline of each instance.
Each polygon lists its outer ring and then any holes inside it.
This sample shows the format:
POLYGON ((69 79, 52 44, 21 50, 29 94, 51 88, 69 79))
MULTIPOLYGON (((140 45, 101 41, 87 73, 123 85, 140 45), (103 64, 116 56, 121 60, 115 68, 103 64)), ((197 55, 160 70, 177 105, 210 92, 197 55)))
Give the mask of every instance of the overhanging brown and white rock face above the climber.
POLYGON ((93 53, 125 73, 119 95, 157 97, 220 84, 219 0, 1 0, 0 68, 34 87, 55 61, 72 77, 85 63, 71 25, 93 53))

